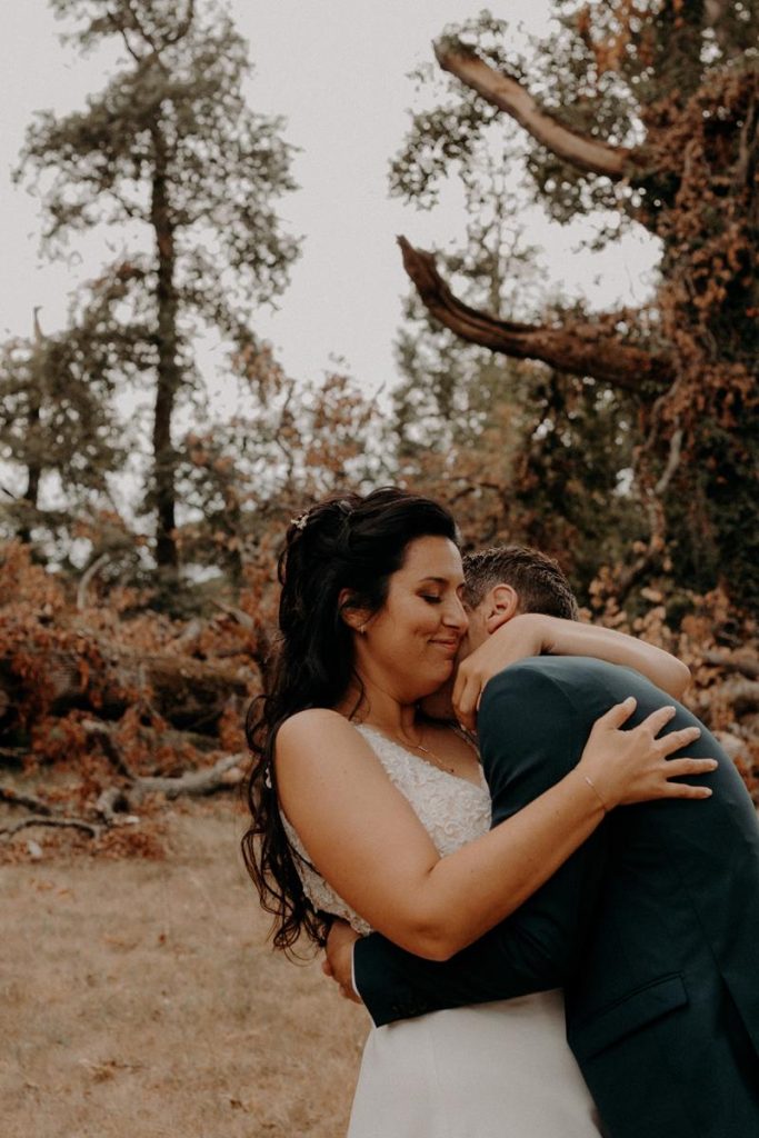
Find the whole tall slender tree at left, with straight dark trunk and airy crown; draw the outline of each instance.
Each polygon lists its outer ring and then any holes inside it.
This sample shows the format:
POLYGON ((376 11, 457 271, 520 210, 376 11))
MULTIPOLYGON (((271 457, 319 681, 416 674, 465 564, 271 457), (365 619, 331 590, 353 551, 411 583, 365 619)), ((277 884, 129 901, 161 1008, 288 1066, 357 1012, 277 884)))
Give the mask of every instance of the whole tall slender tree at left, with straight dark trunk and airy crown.
MULTIPOLYGON (((249 343, 251 306, 284 288, 297 242, 272 203, 295 188, 291 147, 280 119, 246 107, 246 44, 213 0, 203 15, 193 0, 51 3, 79 22, 72 39, 82 51, 115 39, 125 56, 84 110, 38 116, 18 173, 31 170, 44 183, 51 251, 98 225, 117 226, 134 245, 104 272, 132 286, 107 323, 152 384, 148 501, 156 560, 171 586, 179 568, 173 432, 197 384, 193 338, 200 324, 232 345, 249 343)), ((129 366, 126 352, 123 360, 129 366)))

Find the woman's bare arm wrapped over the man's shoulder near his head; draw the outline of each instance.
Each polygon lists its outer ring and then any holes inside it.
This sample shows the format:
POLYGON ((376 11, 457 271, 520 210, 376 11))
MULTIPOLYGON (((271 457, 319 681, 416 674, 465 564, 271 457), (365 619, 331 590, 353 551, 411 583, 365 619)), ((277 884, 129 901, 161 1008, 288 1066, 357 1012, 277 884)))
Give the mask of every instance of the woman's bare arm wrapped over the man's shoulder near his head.
POLYGON ((691 673, 676 657, 645 641, 578 620, 537 612, 512 617, 476 648, 459 667, 453 707, 464 726, 475 728, 482 688, 498 671, 529 655, 589 655, 634 668, 674 699, 687 687, 691 673))

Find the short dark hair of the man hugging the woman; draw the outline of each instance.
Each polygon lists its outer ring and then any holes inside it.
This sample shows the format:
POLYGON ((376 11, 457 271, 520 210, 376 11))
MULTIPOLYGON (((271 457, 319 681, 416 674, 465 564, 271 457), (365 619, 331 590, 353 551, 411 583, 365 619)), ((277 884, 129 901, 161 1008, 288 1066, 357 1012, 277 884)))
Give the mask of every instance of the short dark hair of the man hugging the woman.
POLYGON ((567 577, 553 558, 525 545, 498 545, 464 559, 467 603, 476 609, 488 589, 511 585, 519 594, 520 612, 577 620, 577 601, 567 577))

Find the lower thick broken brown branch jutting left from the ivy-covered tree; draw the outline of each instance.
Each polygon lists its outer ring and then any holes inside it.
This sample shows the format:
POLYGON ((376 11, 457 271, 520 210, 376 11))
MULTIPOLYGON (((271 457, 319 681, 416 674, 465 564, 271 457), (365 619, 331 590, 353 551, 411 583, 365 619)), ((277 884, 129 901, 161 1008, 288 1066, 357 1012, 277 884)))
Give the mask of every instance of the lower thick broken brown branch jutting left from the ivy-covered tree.
POLYGON ((520 324, 498 320, 459 300, 435 265, 431 253, 415 249, 398 238, 403 265, 429 313, 452 332, 481 347, 517 360, 539 360, 559 371, 588 376, 621 390, 663 391, 675 378, 665 356, 604 335, 597 324, 563 327, 520 324))

